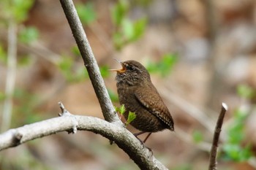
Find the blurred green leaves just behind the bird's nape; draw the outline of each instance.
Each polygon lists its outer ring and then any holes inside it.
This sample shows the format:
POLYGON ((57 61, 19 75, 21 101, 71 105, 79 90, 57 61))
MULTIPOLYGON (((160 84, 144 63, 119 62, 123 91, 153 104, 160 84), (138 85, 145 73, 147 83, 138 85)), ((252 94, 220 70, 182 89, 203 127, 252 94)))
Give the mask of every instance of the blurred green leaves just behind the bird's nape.
POLYGON ((146 68, 148 72, 159 73, 162 77, 166 77, 170 74, 171 69, 178 61, 178 56, 176 54, 167 53, 162 56, 161 60, 156 62, 148 61, 146 68))

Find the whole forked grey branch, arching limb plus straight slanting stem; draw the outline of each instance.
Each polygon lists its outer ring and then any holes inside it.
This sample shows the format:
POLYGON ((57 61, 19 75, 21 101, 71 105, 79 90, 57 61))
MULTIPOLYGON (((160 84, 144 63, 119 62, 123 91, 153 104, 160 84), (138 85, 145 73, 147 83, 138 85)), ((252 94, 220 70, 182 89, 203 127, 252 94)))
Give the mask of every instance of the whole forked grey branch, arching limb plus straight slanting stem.
POLYGON ((61 117, 44 120, 20 128, 10 129, 4 134, 0 134, 0 150, 8 147, 15 147, 32 139, 37 139, 61 131, 76 133, 78 130, 92 131, 101 134, 110 141, 115 142, 129 157, 135 161, 140 169, 167 169, 156 158, 151 150, 148 150, 140 141, 124 128, 119 120, 113 104, 110 101, 108 91, 105 88, 99 67, 91 51, 91 47, 83 31, 83 27, 78 18, 75 6, 71 0, 60 0, 65 15, 69 22, 72 34, 78 44, 86 69, 89 72, 92 85, 102 108, 105 120, 97 117, 75 116, 61 107, 61 117))

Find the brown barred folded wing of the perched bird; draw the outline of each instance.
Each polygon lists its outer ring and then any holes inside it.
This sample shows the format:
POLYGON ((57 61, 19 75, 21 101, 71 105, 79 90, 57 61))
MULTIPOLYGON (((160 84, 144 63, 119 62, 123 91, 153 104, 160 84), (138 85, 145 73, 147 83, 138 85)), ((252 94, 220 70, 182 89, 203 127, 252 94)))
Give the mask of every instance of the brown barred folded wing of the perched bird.
POLYGON ((174 130, 173 118, 171 117, 169 110, 165 106, 157 90, 155 88, 152 88, 151 90, 155 90, 156 93, 150 93, 150 96, 143 94, 141 90, 136 90, 136 99, 138 99, 140 104, 142 104, 148 112, 151 112, 151 114, 155 115, 159 120, 162 120, 162 122, 168 125, 170 130, 174 130))

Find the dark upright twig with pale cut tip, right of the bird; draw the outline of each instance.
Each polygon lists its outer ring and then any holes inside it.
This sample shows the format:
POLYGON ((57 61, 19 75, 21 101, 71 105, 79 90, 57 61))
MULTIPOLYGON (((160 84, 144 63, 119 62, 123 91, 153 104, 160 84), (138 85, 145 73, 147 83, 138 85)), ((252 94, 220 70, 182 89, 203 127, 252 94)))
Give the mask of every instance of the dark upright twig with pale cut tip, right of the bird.
POLYGON ((217 120, 217 124, 214 131, 214 139, 211 145, 211 152, 210 152, 210 161, 209 161, 209 170, 216 170, 217 169, 217 150, 218 150, 218 142, 219 142, 219 135, 222 131, 222 123, 225 117, 225 113, 227 112, 227 104, 222 103, 222 110, 219 113, 219 117, 217 120))

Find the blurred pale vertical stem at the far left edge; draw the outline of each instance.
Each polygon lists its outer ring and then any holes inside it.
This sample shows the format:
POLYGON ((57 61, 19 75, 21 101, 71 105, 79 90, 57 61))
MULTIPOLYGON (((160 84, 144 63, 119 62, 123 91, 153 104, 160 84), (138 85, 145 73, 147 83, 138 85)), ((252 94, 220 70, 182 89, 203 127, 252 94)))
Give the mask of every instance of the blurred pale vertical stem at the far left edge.
POLYGON ((7 82, 5 87, 6 98, 1 120, 1 131, 10 128, 12 117, 12 96, 15 88, 16 65, 17 65, 17 26, 14 20, 10 19, 8 28, 8 56, 7 56, 7 82))

